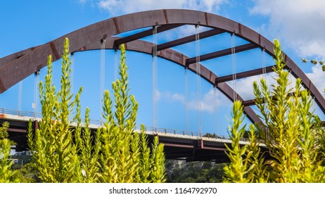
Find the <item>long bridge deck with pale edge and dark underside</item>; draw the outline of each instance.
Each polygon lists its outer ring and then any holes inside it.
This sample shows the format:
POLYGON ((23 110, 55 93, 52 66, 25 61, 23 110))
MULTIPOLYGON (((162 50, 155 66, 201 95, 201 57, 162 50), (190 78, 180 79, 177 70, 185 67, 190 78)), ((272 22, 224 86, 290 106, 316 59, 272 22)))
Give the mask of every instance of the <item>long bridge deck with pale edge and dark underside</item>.
MULTIPOLYGON (((0 124, 9 122, 9 138, 17 144, 16 151, 27 150, 27 128, 29 120, 35 123, 42 120, 40 115, 34 115, 32 112, 20 112, 17 110, 6 110, 0 108, 0 124)), ((76 125, 72 122, 72 126, 76 125)), ((96 131, 101 127, 99 121, 91 121, 90 129, 96 131)), ((153 141, 153 136, 158 136, 159 142, 165 144, 166 159, 177 159, 187 161, 205 161, 212 160, 217 163, 227 162, 228 157, 225 153, 230 146, 229 136, 216 136, 213 134, 200 132, 187 132, 175 129, 161 129, 145 127, 145 133, 148 135, 149 143, 153 141)), ((139 127, 134 132, 140 132, 139 127)), ((243 139, 240 144, 248 144, 247 139, 243 139)), ((265 144, 260 144, 265 148, 265 144)))

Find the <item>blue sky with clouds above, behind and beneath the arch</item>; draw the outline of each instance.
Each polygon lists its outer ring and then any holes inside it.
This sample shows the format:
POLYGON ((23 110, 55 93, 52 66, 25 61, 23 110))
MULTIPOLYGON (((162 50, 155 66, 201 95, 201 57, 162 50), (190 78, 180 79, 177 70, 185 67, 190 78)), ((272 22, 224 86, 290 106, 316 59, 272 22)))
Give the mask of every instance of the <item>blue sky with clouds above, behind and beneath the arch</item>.
MULTIPOLYGON (((282 0, 59 0, 59 1, 1 1, 0 3, 0 58, 11 53, 44 44, 74 30, 91 25, 101 20, 160 8, 186 8, 198 11, 208 11, 217 15, 236 20, 253 30, 260 32, 270 40, 280 39, 283 51, 304 70, 314 84, 319 88, 325 87, 324 72, 319 66, 302 64, 301 58, 325 57, 325 1, 282 1, 282 0)), ((204 28, 200 28, 203 31, 204 28)), ((186 26, 179 31, 158 34, 158 43, 175 37, 193 34, 195 28, 186 26)), ((144 40, 152 41, 152 37, 144 40)), ((236 38, 236 44, 243 42, 236 38)), ((215 49, 231 46, 229 35, 204 39, 200 41, 200 54, 215 49), (218 40, 219 42, 216 42, 218 40), (220 40, 222 42, 220 42, 220 40), (218 48, 219 47, 219 48, 218 48)), ((195 43, 178 46, 175 50, 196 56, 195 43), (186 50, 193 49, 193 50, 186 50)), ((99 118, 99 68, 100 51, 76 53, 74 60, 74 90, 84 87, 82 94, 83 108, 89 107, 91 118, 99 118)), ((106 88, 114 79, 113 51, 106 51, 106 88)), ((236 55, 238 71, 260 68, 262 55, 255 50, 251 53, 236 55), (254 58, 251 58, 254 57, 254 58)), ((153 125, 152 117, 152 87, 151 87, 151 56, 141 53, 127 52, 129 65, 129 80, 131 92, 139 101, 138 123, 153 125)), ((266 65, 272 64, 272 58, 266 57, 266 65)), ((60 73, 60 61, 54 63, 56 84, 60 73)), ((217 61, 206 61, 206 67, 218 75, 231 74, 231 57, 227 56, 217 61), (215 65, 226 65, 217 67, 215 65)), ((41 70, 41 80, 44 79, 46 69, 41 70)), ((271 78, 271 77, 268 77, 271 78)), ((259 77, 250 77, 238 81, 239 94, 244 98, 252 98, 251 87, 259 77)), ((158 127, 170 129, 198 130, 197 110, 197 81, 196 76, 189 72, 189 124, 186 126, 184 96, 184 68, 158 59, 158 127)), ((231 83, 229 83, 231 85, 231 83)), ((230 119, 231 102, 219 91, 216 96, 212 87, 204 80, 201 81, 201 115, 204 132, 227 134, 228 119, 230 119), (216 108, 213 103, 216 103, 216 108), (212 104, 211 104, 212 103, 212 104), (217 118, 216 118, 217 117, 217 118)), ((23 80, 22 110, 32 111, 34 99, 34 76, 23 80)), ((0 108, 18 108, 18 85, 8 89, 0 95, 0 108)), ((323 115, 324 116, 324 115, 323 115)))

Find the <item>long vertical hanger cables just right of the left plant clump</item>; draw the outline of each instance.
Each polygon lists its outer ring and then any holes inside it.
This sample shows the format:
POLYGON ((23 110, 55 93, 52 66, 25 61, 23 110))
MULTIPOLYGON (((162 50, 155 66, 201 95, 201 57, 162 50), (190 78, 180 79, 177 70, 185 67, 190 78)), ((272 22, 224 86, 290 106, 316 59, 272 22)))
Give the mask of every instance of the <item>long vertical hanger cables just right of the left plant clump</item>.
POLYGON ((153 71, 153 127, 158 127, 158 68, 157 68, 157 26, 153 27, 153 49, 152 49, 152 71, 153 71))

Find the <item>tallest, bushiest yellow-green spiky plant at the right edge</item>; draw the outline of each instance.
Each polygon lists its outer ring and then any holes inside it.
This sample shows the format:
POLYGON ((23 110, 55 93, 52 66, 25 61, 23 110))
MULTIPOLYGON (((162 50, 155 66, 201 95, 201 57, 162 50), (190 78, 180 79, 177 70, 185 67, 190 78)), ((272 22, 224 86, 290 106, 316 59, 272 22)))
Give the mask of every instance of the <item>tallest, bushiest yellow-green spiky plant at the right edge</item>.
POLYGON ((264 120, 262 127, 267 128, 267 134, 261 129, 260 133, 274 158, 268 161, 271 178, 275 182, 324 182, 324 167, 317 162, 314 147, 313 126, 317 119, 310 112, 312 98, 307 90, 301 89, 300 79, 295 81, 295 89, 289 88, 278 40, 274 40, 274 54, 274 72, 278 77, 272 90, 263 79, 260 86, 254 83, 256 105, 264 120))

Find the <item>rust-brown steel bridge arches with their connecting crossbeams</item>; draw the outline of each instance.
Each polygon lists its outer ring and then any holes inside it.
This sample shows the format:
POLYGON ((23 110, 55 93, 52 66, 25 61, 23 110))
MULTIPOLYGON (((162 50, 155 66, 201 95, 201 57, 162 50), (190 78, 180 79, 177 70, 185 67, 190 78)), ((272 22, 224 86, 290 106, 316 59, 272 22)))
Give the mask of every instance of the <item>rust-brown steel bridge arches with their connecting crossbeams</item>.
MULTIPOLYGON (((100 49, 101 41, 106 39, 106 49, 118 49, 120 44, 125 44, 126 49, 130 51, 138 51, 141 53, 153 53, 153 44, 150 42, 141 41, 141 38, 153 34, 152 30, 144 30, 142 32, 128 35, 127 37, 114 37, 116 34, 128 32, 131 30, 140 29, 143 27, 157 27, 157 32, 164 32, 180 27, 182 25, 200 25, 210 27, 211 30, 200 32, 199 38, 212 37, 217 34, 233 34, 248 42, 234 47, 236 53, 249 51, 251 49, 260 48, 265 50, 269 56, 274 56, 272 42, 267 40, 261 34, 251 30, 249 27, 236 23, 233 20, 223 18, 219 15, 206 13, 201 11, 189 10, 157 10, 144 11, 140 13, 132 13, 122 15, 108 20, 103 20, 99 23, 83 27, 79 30, 65 34, 63 37, 54 39, 51 42, 40 46, 34 46, 30 49, 25 49, 17 53, 0 59, 0 94, 17 84, 25 77, 32 75, 37 70, 46 66, 46 57, 52 55, 53 61, 57 61, 62 54, 63 39, 70 39, 70 51, 72 53, 78 51, 88 51, 100 49)), ((186 44, 196 40, 196 35, 174 39, 164 44, 158 44, 157 56, 165 58, 168 61, 177 63, 184 68, 189 68, 192 72, 198 73, 196 68, 196 57, 187 57, 182 53, 170 49, 173 46, 186 44)), ((229 87, 226 82, 233 80, 231 75, 219 77, 214 72, 205 68, 201 63, 213 58, 219 58, 231 54, 231 49, 223 49, 200 55, 200 77, 217 87, 231 101, 236 99, 243 102, 244 112, 252 122, 261 122, 250 107, 254 105, 253 100, 245 101, 243 98, 234 94, 234 89, 229 87), (236 98, 234 98, 236 96, 236 98)), ((291 71, 294 77, 299 77, 302 80, 302 85, 310 90, 319 108, 325 113, 325 100, 318 89, 314 86, 311 80, 305 75, 302 70, 296 65, 286 53, 283 53, 286 69, 291 71)), ((253 75, 261 75, 263 72, 273 72, 272 66, 268 66, 263 71, 263 68, 248 70, 246 72, 236 73, 236 79, 251 77, 253 75)))

